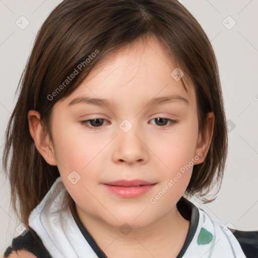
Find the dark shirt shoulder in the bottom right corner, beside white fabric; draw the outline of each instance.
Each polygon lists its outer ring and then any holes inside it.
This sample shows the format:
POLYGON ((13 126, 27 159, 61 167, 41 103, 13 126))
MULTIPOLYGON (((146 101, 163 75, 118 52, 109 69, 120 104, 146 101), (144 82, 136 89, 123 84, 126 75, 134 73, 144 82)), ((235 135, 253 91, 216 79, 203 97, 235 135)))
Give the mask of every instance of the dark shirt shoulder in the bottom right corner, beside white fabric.
MULTIPOLYGON (((233 232, 232 229, 230 230, 233 232)), ((235 230, 233 235, 247 258, 258 258, 258 231, 235 230)))

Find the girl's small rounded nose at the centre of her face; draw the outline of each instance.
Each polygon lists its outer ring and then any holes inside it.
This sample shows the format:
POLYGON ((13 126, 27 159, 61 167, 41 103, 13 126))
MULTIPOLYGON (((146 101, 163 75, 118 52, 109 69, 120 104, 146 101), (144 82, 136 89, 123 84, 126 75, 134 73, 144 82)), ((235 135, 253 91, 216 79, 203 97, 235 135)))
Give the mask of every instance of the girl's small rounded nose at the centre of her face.
POLYGON ((148 161, 148 148, 144 137, 141 137, 139 130, 132 127, 127 133, 118 128, 112 159, 116 163, 144 164, 148 161))

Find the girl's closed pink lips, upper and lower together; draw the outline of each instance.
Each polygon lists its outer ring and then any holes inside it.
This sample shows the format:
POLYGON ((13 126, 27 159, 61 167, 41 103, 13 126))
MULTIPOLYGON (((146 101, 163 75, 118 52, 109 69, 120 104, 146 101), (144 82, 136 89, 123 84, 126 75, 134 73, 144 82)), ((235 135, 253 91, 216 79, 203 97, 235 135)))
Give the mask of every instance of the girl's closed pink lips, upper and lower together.
POLYGON ((114 195, 123 198, 136 198, 150 191, 156 183, 147 182, 140 179, 118 180, 103 183, 103 185, 114 195))

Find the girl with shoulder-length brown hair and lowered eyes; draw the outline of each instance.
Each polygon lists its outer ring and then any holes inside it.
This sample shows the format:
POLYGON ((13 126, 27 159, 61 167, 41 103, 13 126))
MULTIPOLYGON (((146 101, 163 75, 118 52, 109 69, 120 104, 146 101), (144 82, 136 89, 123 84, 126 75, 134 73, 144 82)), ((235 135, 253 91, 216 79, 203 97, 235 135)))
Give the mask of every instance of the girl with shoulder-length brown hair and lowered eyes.
POLYGON ((20 85, 4 167, 23 223, 5 257, 256 257, 257 232, 186 199, 214 200, 227 132, 214 51, 180 3, 63 1, 20 85))

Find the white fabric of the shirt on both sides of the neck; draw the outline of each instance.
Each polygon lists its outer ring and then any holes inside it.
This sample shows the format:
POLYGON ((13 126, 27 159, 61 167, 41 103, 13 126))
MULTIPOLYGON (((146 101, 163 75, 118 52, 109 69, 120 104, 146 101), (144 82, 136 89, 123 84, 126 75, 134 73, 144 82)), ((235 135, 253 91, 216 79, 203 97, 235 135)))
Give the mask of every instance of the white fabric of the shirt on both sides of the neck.
MULTIPOLYGON (((81 222, 81 227, 78 227, 78 221, 73 218, 69 207, 62 206, 66 191, 61 177, 58 177, 41 203, 31 212, 29 226, 40 236, 53 258, 101 257, 96 252, 106 257, 92 243, 94 239, 81 222)), ((213 222, 207 213, 184 198, 177 204, 179 212, 184 205, 191 210, 190 227, 178 258, 246 258, 228 228, 213 222)))

